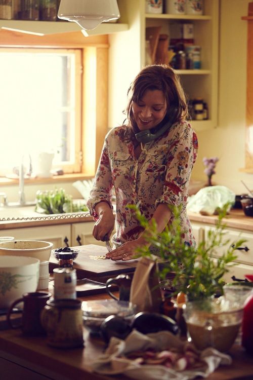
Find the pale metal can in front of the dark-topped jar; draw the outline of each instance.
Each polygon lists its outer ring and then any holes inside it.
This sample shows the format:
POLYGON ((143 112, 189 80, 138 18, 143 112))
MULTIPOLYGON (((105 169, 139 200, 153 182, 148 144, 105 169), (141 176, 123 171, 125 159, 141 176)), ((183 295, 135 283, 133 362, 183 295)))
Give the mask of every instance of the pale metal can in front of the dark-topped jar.
POLYGON ((69 268, 54 269, 54 298, 76 298, 76 270, 69 268))

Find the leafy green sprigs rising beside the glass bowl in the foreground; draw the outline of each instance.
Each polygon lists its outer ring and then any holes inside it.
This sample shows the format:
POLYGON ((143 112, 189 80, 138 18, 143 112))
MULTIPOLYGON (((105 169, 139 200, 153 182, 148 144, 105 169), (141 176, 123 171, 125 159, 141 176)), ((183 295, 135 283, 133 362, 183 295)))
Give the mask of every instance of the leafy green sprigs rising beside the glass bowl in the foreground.
MULTIPOLYGON (((173 286, 177 292, 182 291, 188 300, 203 300, 215 294, 223 294, 223 276, 234 265, 237 255, 235 250, 245 242, 239 239, 230 242, 226 239, 223 218, 230 204, 219 210, 215 229, 208 231, 207 239, 198 247, 186 245, 182 240, 183 231, 180 224, 180 207, 171 207, 174 215, 172 223, 162 233, 157 232, 155 221, 149 223, 136 206, 129 206, 136 212, 136 217, 146 230, 145 239, 155 248, 159 257, 158 276, 165 280, 168 273, 174 273, 173 286), (217 258, 217 249, 224 248, 217 258), (216 257, 215 257, 216 256, 216 257)), ((142 256, 152 256, 148 245, 138 248, 142 256)))

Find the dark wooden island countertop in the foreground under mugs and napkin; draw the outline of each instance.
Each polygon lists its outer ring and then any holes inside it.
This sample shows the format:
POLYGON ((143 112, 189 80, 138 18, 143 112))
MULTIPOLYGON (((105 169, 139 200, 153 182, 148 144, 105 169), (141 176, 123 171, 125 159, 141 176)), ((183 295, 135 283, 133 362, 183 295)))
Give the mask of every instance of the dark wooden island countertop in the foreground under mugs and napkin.
MULTIPOLYGON (((82 297, 81 299, 108 297, 107 294, 97 294, 82 297)), ((127 377, 123 375, 111 377, 91 373, 90 365, 96 357, 102 354, 105 345, 101 339, 90 336, 85 328, 83 328, 83 336, 85 338, 85 347, 59 350, 49 347, 46 337, 25 337, 19 329, 2 330, 0 334, 0 358, 9 358, 8 360, 14 362, 17 360, 20 365, 57 380, 81 380, 84 378, 89 380, 125 380, 127 377)), ((207 380, 252 379, 252 357, 247 355, 239 345, 234 345, 228 354, 232 357, 232 364, 230 366, 220 366, 207 377, 207 380)), ((14 373, 12 373, 12 376, 13 378, 21 378, 19 376, 15 377, 14 373)), ((3 379, 5 378, 9 377, 3 377, 3 379)))

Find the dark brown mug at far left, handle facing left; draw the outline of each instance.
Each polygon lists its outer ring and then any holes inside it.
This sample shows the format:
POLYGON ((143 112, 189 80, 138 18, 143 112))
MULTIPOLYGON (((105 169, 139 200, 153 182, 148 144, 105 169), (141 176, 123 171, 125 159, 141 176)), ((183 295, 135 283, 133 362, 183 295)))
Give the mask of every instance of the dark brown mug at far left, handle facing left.
POLYGON ((46 291, 37 291, 31 293, 24 293, 22 298, 17 299, 10 306, 7 313, 7 322, 11 328, 21 328, 25 335, 44 335, 46 331, 40 322, 40 313, 47 301, 52 296, 51 293, 46 291), (24 302, 21 322, 13 324, 11 314, 15 305, 24 302))

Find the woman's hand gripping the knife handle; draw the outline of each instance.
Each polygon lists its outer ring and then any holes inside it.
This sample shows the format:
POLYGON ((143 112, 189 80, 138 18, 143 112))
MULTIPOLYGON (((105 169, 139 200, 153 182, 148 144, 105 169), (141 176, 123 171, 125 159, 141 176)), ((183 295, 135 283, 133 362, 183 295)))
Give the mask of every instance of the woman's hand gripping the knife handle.
POLYGON ((99 213, 99 218, 93 228, 93 236, 97 240, 104 241, 105 235, 110 238, 114 229, 114 216, 111 208, 103 210, 99 213))

